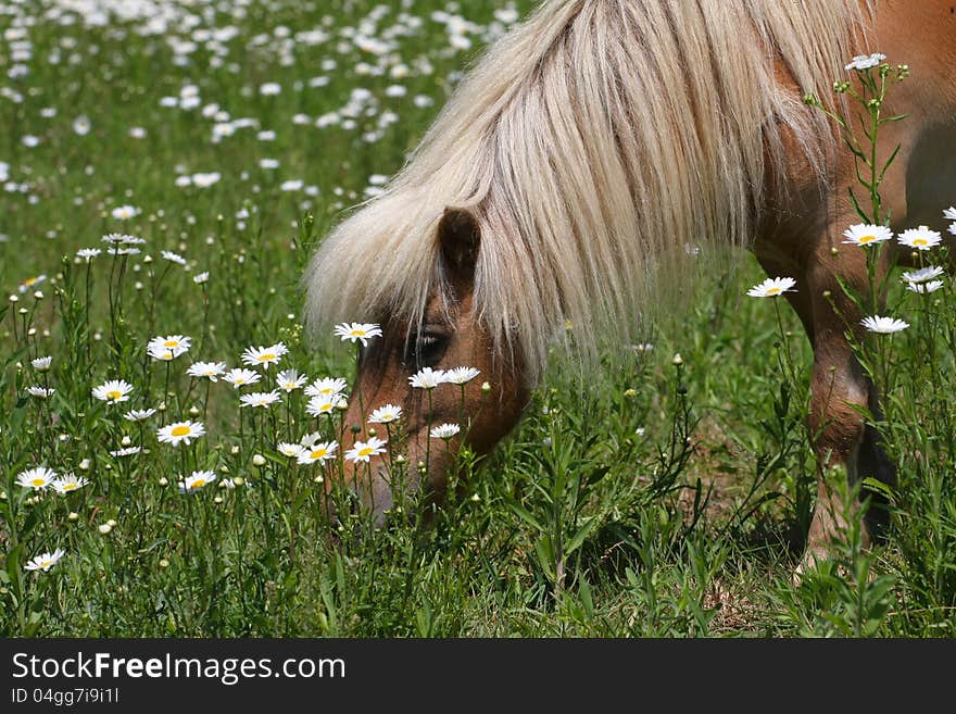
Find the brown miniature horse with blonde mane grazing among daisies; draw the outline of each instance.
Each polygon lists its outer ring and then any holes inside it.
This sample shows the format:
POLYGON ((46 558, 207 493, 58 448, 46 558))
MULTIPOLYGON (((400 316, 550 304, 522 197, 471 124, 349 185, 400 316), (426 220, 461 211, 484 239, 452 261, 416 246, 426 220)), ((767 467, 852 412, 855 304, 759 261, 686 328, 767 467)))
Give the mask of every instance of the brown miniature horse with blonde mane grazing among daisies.
MULTIPOLYGON (((467 440, 486 453, 520 417, 567 325, 582 359, 602 334, 624 342, 636 317, 667 304, 655 278, 687 268, 687 245, 739 246, 796 279, 787 299, 814 347, 820 464, 804 564, 825 556, 846 513, 827 472, 843 466, 853 483, 892 479, 893 466, 860 414, 877 394, 845 337, 861 315, 839 280, 867 287, 864 251, 841 240, 859 222, 854 163, 803 98, 833 97, 848 59, 870 52, 913 74, 888 100, 909 118, 881 134, 883 160, 901 146, 882 186, 886 215, 893 228, 938 224, 956 186, 951 2, 545 2, 486 52, 385 193, 312 260, 313 324, 383 330, 360 363, 353 438, 372 409, 401 404, 410 463, 424 460, 428 425, 457 422, 461 393, 444 385, 427 400, 408 378, 470 365, 492 390, 465 388, 467 440)), ((431 450, 410 488, 440 498, 446 453, 431 450)), ((350 478, 381 521, 393 503, 386 463, 350 478)))

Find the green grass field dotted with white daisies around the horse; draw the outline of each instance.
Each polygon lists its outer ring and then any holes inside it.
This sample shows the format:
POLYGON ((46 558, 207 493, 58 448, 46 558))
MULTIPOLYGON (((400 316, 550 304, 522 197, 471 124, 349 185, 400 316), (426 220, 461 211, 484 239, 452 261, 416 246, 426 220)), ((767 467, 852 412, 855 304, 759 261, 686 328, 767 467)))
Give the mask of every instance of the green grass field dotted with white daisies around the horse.
POLYGON ((932 295, 892 280, 888 310, 910 327, 861 347, 900 466, 889 538, 863 550, 853 517, 800 585, 812 353, 784 303, 745 297, 764 277, 749 255, 709 270, 645 343, 584 374, 555 354, 520 426, 465 455, 471 477, 430 526, 408 503, 330 542, 322 481, 341 454, 279 450, 344 425, 307 416, 277 372, 354 377, 351 346, 304 335, 305 261, 528 7, 0 4, 0 634, 956 635, 948 280, 932 295), (148 354, 172 336, 188 350, 148 354), (279 342, 256 385, 187 374, 279 342), (128 399, 93 396, 114 379, 128 399), (271 406, 240 406, 271 389, 271 406), (185 421, 204 434, 160 440, 185 421), (87 483, 17 483, 41 466, 87 483), (194 472, 205 485, 180 492, 194 472))

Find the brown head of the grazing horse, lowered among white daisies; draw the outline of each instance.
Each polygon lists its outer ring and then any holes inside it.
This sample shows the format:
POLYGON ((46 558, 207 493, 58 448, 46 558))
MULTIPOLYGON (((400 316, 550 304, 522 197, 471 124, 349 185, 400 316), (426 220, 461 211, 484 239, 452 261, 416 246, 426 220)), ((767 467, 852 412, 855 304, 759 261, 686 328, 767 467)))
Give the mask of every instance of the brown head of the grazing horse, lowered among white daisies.
POLYGON ((377 525, 400 492, 440 502, 462 446, 491 451, 528 397, 520 358, 496 353, 475 310, 481 231, 474 214, 445 209, 436 240, 441 281, 417 317, 376 315, 382 335, 362 349, 344 417, 344 449, 391 443, 388 456, 345 463, 345 483, 377 525))

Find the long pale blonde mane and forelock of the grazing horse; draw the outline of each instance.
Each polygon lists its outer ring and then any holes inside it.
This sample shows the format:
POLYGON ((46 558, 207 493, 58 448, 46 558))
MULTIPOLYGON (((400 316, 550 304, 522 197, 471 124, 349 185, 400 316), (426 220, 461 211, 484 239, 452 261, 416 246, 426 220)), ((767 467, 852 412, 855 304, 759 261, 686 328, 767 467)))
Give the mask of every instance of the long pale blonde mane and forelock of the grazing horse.
POLYGON ((752 239, 784 130, 823 175, 831 133, 775 67, 822 95, 866 17, 855 0, 545 2, 323 241, 310 322, 420 321, 448 290, 437 226, 453 206, 480 226, 477 317, 531 379, 565 325, 586 349, 626 334, 680 279, 688 245, 752 239))

